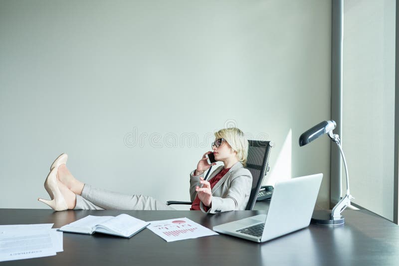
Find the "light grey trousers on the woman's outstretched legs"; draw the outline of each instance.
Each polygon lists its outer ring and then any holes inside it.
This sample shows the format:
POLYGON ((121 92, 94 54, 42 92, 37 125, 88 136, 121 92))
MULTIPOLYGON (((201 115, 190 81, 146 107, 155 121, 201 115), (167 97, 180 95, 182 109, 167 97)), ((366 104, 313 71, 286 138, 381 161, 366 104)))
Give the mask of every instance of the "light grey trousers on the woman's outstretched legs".
POLYGON ((84 184, 76 195, 74 210, 175 210, 164 202, 143 195, 126 195, 84 184))

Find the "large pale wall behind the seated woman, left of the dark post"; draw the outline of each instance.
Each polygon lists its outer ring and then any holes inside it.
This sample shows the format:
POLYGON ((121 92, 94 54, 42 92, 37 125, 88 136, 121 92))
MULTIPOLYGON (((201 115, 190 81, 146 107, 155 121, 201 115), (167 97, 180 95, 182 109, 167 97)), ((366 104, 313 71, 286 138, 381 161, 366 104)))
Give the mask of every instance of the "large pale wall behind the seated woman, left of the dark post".
POLYGON ((331 1, 2 0, 0 36, 0 208, 47 208, 62 152, 83 182, 189 200, 230 125, 275 141, 266 182, 324 173, 328 206, 330 142, 298 137, 330 119, 331 1))

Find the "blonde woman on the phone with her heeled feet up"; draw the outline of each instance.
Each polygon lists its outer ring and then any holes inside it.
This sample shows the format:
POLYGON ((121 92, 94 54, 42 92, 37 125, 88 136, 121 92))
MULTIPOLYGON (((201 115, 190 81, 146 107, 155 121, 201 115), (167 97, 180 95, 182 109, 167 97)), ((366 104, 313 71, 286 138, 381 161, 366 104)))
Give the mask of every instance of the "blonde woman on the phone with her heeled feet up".
MULTIPOLYGON (((197 169, 190 174, 191 210, 219 213, 244 210, 252 188, 252 175, 245 169, 248 141, 237 128, 222 129, 215 133, 212 150, 216 161, 223 166, 216 168, 203 180, 203 173, 211 165, 203 154, 197 169)), ((119 210, 174 210, 163 202, 143 195, 125 195, 94 188, 77 180, 66 167, 67 154, 58 156, 50 167, 44 187, 51 200, 38 200, 56 211, 67 209, 119 209, 119 210)))

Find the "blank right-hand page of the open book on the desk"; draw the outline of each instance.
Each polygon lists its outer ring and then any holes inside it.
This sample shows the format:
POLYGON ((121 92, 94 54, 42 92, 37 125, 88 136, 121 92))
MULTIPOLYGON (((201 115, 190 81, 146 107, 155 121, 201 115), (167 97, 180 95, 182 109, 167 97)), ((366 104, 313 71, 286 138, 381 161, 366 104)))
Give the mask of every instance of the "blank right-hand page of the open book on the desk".
POLYGON ((96 228, 99 229, 98 232, 103 232, 101 229, 106 229, 110 233, 128 237, 146 225, 148 225, 148 223, 143 220, 134 218, 127 214, 120 214, 114 219, 110 219, 97 225, 96 228))

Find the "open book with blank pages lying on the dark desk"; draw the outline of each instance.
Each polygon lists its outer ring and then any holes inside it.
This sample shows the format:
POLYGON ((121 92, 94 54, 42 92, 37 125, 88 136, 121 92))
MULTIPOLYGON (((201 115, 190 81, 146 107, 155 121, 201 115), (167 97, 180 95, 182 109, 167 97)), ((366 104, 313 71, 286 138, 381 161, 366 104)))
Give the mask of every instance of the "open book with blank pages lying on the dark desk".
POLYGON ((88 234, 94 232, 114 235, 118 237, 131 238, 150 223, 134 218, 127 214, 113 216, 92 216, 88 215, 73 223, 64 225, 59 231, 88 234))

